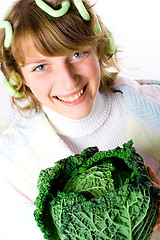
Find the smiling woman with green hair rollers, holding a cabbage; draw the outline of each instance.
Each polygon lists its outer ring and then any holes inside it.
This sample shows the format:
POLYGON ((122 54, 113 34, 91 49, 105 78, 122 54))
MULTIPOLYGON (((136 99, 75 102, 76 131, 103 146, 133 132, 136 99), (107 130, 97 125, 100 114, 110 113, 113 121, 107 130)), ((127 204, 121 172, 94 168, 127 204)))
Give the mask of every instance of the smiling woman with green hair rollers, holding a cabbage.
MULTIPOLYGON (((120 77, 112 34, 88 0, 18 0, 4 21, 0 63, 16 110, 0 126, 0 176, 9 189, 1 196, 0 238, 40 240, 37 181, 59 159, 132 139, 160 177, 160 85, 120 77)), ((152 227, 158 231, 158 221, 152 227)))

